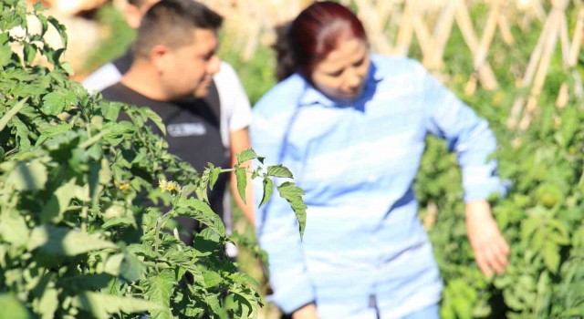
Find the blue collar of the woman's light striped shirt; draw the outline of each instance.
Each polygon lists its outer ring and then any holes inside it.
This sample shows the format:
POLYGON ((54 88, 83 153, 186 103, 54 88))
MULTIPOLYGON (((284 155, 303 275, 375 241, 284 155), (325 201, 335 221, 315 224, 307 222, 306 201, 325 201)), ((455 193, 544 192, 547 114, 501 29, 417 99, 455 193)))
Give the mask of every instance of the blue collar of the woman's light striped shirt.
POLYGON ((371 59, 367 76, 367 82, 365 83, 365 88, 363 89, 363 93, 361 94, 360 98, 358 98, 356 101, 343 103, 332 100, 325 96, 324 94, 322 94, 317 88, 313 87, 305 79, 306 87, 304 89, 304 92, 302 93, 302 96, 299 99, 299 104, 301 107, 318 104, 328 108, 333 107, 347 108, 350 107, 355 102, 358 102, 361 98, 369 96, 370 95, 369 93, 375 89, 377 83, 380 82, 382 79, 383 75, 381 74, 379 68, 375 66, 375 61, 371 59))

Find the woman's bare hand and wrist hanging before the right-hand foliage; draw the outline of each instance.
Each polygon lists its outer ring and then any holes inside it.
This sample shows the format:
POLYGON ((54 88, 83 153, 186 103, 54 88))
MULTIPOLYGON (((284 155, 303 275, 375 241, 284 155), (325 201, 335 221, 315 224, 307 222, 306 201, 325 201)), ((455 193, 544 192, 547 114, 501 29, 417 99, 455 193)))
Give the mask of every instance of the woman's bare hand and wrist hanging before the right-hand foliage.
POLYGON ((499 232, 491 206, 487 201, 466 204, 466 231, 474 250, 474 260, 487 277, 504 273, 509 257, 509 245, 499 232))

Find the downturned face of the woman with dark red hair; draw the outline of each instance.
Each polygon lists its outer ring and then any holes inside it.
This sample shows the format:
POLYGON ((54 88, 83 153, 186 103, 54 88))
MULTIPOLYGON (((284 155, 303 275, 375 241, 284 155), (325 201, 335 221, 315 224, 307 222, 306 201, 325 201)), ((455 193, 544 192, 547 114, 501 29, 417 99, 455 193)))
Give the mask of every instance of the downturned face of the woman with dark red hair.
POLYGON ((328 98, 352 101, 363 93, 370 58, 367 43, 344 37, 312 73, 314 86, 328 98))

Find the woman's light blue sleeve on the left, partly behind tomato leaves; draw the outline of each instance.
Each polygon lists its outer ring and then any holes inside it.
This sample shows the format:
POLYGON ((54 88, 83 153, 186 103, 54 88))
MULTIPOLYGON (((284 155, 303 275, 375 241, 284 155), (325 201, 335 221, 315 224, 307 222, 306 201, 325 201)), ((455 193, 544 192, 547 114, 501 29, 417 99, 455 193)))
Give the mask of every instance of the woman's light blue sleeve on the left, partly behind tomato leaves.
MULTIPOLYGON (((302 149, 292 149, 289 124, 294 107, 278 108, 286 98, 268 95, 254 108, 250 129, 255 152, 266 157, 265 165, 284 164, 295 177, 302 168, 302 149)), ((282 180, 275 180, 275 185, 282 180)), ((264 193, 261 181, 254 184, 256 207, 264 193)), ((260 246, 268 253, 269 280, 274 293, 268 300, 285 313, 315 300, 314 288, 306 271, 297 219, 287 201, 277 190, 270 201, 255 214, 255 227, 260 246)))

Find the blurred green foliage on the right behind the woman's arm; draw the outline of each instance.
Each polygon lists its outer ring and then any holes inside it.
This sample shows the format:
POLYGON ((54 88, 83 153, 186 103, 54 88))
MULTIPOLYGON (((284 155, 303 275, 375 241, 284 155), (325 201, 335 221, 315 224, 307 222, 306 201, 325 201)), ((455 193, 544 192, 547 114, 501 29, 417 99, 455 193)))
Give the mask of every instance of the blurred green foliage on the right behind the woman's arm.
MULTIPOLYGON (((568 10, 568 19, 578 10, 568 10)), ((485 15, 473 12, 477 26, 485 15)), ((513 26, 513 25, 512 25, 513 26)), ((514 26, 516 27, 516 26, 514 26)), ((533 27, 541 28, 537 23, 533 27)), ((454 30, 446 46, 447 85, 464 98, 477 113, 487 118, 498 141, 495 157, 499 172, 510 188, 504 199, 492 201, 493 211, 511 246, 510 266, 503 275, 489 279, 474 262, 466 238, 464 203, 461 201, 460 171, 453 154, 443 142, 429 138, 416 180, 421 217, 435 223, 430 237, 445 283, 443 318, 582 318, 584 290, 581 266, 581 211, 584 135, 582 100, 570 96, 565 108, 555 106, 558 87, 571 83, 574 69, 561 65, 561 50, 554 53, 549 77, 538 100, 537 113, 527 131, 506 127, 515 98, 526 92, 516 88, 516 70, 524 70, 539 32, 512 30, 514 46, 495 38, 489 59, 500 88, 487 92, 479 88, 465 96, 466 74, 473 60, 462 35, 454 30), (464 48, 462 48, 464 47, 464 48), (502 54, 505 52, 505 54, 502 54), (510 72, 511 71, 511 72, 510 72)), ((415 54, 415 53, 414 53, 415 54)), ((582 65, 576 67, 581 68, 582 65)))

